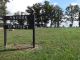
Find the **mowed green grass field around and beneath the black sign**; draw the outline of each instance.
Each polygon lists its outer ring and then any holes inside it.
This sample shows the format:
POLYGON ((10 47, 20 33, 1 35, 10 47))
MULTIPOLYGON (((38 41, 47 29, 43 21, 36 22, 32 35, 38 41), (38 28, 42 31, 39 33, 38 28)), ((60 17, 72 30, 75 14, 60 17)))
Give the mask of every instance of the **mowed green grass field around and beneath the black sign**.
POLYGON ((32 45, 32 30, 8 31, 7 35, 4 50, 0 30, 0 60, 80 60, 80 28, 36 29, 35 49, 13 49, 18 44, 32 45))

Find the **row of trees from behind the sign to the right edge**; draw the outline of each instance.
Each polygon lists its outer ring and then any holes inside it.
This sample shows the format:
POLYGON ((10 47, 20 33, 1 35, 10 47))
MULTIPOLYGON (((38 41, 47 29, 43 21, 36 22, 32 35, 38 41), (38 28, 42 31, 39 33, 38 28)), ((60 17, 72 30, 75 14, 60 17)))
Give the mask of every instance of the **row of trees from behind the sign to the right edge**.
POLYGON ((26 12, 32 14, 35 12, 36 24, 38 27, 44 26, 51 21, 50 27, 54 24, 54 27, 59 27, 62 22, 62 18, 64 15, 69 17, 68 20, 71 21, 70 27, 73 25, 73 21, 75 20, 75 15, 78 14, 78 21, 80 27, 80 7, 79 5, 69 5, 66 7, 65 12, 63 12, 62 8, 59 5, 51 5, 49 1, 45 1, 42 3, 33 4, 33 6, 28 6, 26 12), (43 24, 44 23, 44 24, 43 24))

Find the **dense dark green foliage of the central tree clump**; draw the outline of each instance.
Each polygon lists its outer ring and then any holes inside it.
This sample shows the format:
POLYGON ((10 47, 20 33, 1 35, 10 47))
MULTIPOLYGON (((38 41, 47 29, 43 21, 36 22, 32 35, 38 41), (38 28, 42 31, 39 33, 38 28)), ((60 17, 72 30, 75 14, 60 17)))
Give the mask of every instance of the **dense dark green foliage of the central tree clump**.
POLYGON ((59 22, 62 15, 62 9, 59 6, 53 6, 48 1, 45 1, 44 4, 36 3, 33 6, 28 6, 27 13, 33 14, 35 12, 35 19, 38 25, 39 23, 44 23, 45 26, 49 20, 53 23, 53 20, 59 22))

